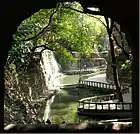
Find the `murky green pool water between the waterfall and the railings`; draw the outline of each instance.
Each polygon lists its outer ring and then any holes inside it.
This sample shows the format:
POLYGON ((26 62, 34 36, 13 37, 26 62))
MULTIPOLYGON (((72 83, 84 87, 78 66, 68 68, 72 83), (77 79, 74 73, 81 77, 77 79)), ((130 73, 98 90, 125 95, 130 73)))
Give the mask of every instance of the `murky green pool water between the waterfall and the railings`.
MULTIPOLYGON (((59 78, 59 84, 76 84, 78 83, 79 75, 64 75, 59 78)), ((53 123, 78 123, 78 122, 92 122, 95 119, 86 116, 77 115, 78 100, 102 93, 95 92, 94 89, 83 88, 68 88, 60 89, 60 92, 55 96, 51 104, 50 119, 53 123)))

